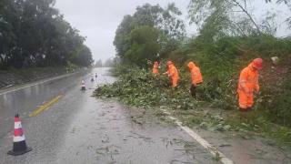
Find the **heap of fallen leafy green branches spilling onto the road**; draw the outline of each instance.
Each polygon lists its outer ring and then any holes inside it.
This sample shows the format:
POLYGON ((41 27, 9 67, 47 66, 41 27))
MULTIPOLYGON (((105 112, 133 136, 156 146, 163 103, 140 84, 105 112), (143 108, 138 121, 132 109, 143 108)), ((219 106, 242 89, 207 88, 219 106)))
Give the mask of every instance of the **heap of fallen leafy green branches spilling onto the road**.
POLYGON ((153 76, 145 69, 130 69, 113 84, 98 87, 97 97, 118 97, 125 104, 135 107, 161 107, 189 109, 196 107, 197 101, 190 97, 186 81, 174 89, 166 76, 153 76), (184 84, 184 85, 183 85, 184 84))

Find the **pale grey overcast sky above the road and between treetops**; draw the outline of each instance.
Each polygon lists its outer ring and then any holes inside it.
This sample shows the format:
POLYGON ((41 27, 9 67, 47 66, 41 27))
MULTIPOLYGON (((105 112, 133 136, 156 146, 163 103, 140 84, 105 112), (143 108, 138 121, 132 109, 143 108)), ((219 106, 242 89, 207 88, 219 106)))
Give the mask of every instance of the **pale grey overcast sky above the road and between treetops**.
MULTIPOLYGON (((266 13, 266 9, 281 15, 278 16, 282 19, 277 21, 278 24, 284 21, 286 15, 290 15, 284 5, 281 7, 276 5, 275 8, 275 5, 266 5, 264 1, 256 0, 254 4, 257 19, 266 13)), ((115 56, 115 46, 113 46, 115 30, 124 15, 134 14, 137 5, 149 3, 164 7, 171 2, 176 3, 186 19, 189 0, 56 0, 55 8, 65 15, 65 20, 78 29, 82 36, 87 37, 85 45, 90 47, 95 61, 98 59, 105 61, 115 56)), ((281 28, 278 36, 286 36, 286 26, 281 28)), ((187 33, 195 35, 195 27, 187 26, 187 33)))

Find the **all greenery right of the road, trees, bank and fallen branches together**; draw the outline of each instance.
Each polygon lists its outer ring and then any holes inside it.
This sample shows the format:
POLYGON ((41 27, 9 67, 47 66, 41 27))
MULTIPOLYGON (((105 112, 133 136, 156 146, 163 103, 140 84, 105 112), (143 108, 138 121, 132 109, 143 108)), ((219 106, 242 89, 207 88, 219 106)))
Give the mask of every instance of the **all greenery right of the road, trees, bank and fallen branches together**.
MULTIPOLYGON (((243 2, 191 0, 188 15, 199 26, 198 36, 191 38, 186 37, 184 21, 178 18, 180 12, 174 4, 137 7, 116 30, 121 63, 113 72, 119 78, 113 85, 98 87, 95 96, 118 97, 136 107, 169 108, 189 126, 256 134, 290 144, 291 38, 275 36, 276 26, 271 22, 276 15, 256 22, 243 2), (240 16, 232 12, 235 9, 240 16), (273 56, 279 58, 278 63, 273 63, 273 56), (238 76, 256 57, 265 61, 259 79, 261 91, 253 111, 241 116, 236 98, 238 76), (162 62, 160 73, 166 71, 166 60, 174 61, 181 75, 179 87, 171 88, 165 76, 154 77, 148 60, 162 62), (186 64, 190 60, 204 77, 197 99, 188 91, 191 82, 186 64)), ((290 6, 289 1, 277 3, 290 6)))

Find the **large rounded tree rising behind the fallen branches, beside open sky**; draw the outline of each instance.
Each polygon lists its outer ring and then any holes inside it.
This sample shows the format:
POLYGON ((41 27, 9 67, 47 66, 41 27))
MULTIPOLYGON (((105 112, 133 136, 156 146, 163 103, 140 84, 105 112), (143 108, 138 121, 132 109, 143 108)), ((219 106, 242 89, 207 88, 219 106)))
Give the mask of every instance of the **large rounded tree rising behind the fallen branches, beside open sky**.
MULTIPOLYGON (((156 42, 159 47, 155 47, 158 49, 156 54, 160 55, 158 56, 159 58, 166 57, 169 52, 175 50, 180 45, 185 37, 185 25, 179 18, 179 15, 181 15, 181 12, 176 8, 175 4, 169 4, 165 8, 160 5, 149 4, 137 6, 135 14, 125 15, 115 32, 114 45, 117 56, 120 56, 122 60, 126 59, 127 62, 140 61, 140 57, 144 55, 139 53, 138 56, 135 56, 133 52, 142 51, 143 47, 139 46, 145 45, 133 42, 135 39, 132 37, 132 32, 135 30, 135 33, 141 34, 143 33, 142 31, 145 32, 147 30, 148 32, 155 31, 155 34, 149 34, 151 37, 156 36, 157 32, 156 42), (149 30, 149 27, 156 30, 149 30), (133 57, 133 59, 129 59, 129 56, 133 57)), ((158 57, 156 56, 156 58, 158 57)))

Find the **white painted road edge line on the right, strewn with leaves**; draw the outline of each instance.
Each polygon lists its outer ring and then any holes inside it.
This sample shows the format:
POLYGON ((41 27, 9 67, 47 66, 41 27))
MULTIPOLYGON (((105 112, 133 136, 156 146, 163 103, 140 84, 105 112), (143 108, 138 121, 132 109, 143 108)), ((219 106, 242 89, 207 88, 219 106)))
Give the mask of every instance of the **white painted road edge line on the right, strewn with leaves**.
POLYGON ((206 139, 201 138, 191 128, 183 126, 183 123, 181 121, 179 121, 177 118, 170 116, 170 113, 166 109, 162 109, 162 111, 166 115, 168 115, 168 118, 172 119, 179 128, 182 128, 189 136, 191 136, 191 138, 194 138, 202 147, 207 149, 213 156, 216 157, 218 154, 219 157, 221 158, 220 161, 223 164, 234 164, 234 162, 231 159, 226 158, 226 155, 224 155, 222 152, 220 152, 218 149, 216 149, 215 146, 213 146, 209 142, 207 142, 206 139))

